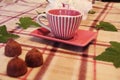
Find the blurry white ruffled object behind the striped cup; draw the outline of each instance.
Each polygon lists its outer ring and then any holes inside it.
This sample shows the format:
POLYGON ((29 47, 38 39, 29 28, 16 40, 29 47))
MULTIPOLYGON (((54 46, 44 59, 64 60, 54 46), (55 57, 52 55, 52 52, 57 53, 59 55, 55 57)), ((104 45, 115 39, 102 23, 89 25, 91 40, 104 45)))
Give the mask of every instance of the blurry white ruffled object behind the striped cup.
POLYGON ((46 12, 50 9, 74 9, 83 14, 83 20, 87 18, 89 10, 92 9, 92 2, 88 0, 48 0, 46 12))

